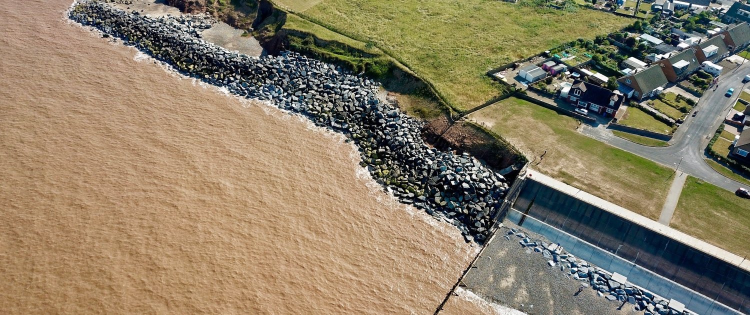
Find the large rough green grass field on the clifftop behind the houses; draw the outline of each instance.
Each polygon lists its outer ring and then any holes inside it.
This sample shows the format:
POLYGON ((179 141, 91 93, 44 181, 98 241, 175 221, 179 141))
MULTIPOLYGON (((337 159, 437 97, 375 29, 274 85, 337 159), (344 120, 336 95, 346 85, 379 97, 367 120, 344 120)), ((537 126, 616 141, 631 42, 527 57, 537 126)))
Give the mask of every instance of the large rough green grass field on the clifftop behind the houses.
POLYGON ((491 68, 633 23, 598 10, 486 0, 322 0, 302 14, 389 52, 460 109, 499 95, 502 86, 486 75, 491 68))

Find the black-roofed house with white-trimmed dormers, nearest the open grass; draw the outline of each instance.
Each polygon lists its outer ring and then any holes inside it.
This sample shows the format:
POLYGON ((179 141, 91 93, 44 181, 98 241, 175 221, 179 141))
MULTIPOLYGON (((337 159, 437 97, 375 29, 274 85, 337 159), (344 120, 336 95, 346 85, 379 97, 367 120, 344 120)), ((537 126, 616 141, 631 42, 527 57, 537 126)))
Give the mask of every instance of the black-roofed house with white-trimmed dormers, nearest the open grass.
POLYGON ((575 104, 577 107, 585 108, 590 113, 614 117, 622 102, 625 101, 625 96, 620 95, 619 92, 612 92, 595 86, 592 83, 574 80, 565 101, 575 104))

